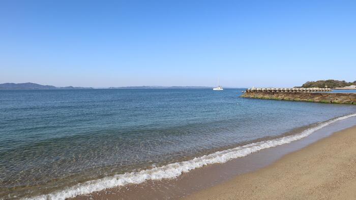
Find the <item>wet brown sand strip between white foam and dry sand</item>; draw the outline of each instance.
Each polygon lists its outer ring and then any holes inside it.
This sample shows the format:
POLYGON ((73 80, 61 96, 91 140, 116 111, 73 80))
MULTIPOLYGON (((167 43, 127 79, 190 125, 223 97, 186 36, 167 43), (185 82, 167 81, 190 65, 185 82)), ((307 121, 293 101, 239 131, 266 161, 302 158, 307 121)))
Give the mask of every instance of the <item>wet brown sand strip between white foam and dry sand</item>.
POLYGON ((140 184, 128 184, 107 188, 88 194, 78 195, 74 199, 144 199, 144 198, 182 198, 198 191, 222 184, 241 174, 258 171, 276 162, 284 155, 298 151, 334 132, 354 126, 356 118, 350 117, 314 130, 308 137, 292 143, 278 145, 251 153, 224 163, 205 165, 174 179, 146 180, 140 184))

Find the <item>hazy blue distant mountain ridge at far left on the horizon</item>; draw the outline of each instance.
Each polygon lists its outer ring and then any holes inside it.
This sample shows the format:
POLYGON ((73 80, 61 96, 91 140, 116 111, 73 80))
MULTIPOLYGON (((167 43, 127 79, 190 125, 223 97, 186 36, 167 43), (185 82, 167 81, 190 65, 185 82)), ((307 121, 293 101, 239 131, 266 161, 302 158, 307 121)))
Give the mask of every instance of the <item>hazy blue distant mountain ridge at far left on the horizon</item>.
POLYGON ((37 83, 3 83, 0 89, 93 89, 92 87, 55 87, 52 85, 40 85, 37 83))

